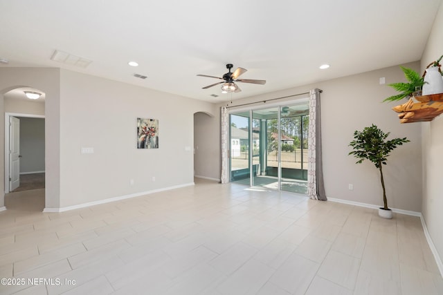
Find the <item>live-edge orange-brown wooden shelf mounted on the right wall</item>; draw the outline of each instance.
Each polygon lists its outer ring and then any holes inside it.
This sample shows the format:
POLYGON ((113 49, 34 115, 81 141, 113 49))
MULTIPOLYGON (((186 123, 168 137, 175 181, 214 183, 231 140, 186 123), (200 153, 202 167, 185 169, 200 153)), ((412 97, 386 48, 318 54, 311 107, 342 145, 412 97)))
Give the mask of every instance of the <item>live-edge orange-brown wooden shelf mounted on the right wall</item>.
POLYGON ((400 123, 428 122, 443 113, 443 93, 416 96, 415 99, 419 102, 411 98, 406 104, 392 108, 399 113, 400 123))

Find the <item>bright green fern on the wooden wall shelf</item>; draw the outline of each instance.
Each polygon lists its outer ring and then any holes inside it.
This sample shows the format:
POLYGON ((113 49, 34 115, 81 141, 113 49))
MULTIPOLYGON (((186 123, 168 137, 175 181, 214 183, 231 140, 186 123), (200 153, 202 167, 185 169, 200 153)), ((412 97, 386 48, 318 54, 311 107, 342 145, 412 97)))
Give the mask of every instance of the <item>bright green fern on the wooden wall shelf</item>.
POLYGON ((424 77, 420 76, 420 74, 415 72, 415 70, 410 68, 405 68, 403 66, 400 66, 400 68, 401 70, 403 70, 404 76, 406 77, 409 83, 399 82, 399 83, 388 84, 388 86, 391 86, 396 91, 399 91, 399 94, 392 95, 383 100, 383 102, 394 102, 396 100, 400 100, 403 98, 413 97, 415 96, 414 93, 416 91, 421 91, 423 85, 426 83, 424 82, 424 77))

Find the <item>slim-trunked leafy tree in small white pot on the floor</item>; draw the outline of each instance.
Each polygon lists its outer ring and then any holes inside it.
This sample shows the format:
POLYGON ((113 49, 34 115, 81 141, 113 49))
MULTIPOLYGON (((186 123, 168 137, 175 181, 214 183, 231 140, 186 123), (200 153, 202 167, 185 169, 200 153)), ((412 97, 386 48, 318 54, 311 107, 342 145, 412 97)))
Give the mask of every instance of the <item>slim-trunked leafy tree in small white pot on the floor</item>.
POLYGON ((406 137, 387 140, 389 134, 389 132, 384 133, 376 125, 372 124, 372 126, 365 127, 363 131, 355 131, 354 140, 349 144, 354 149, 349 155, 354 155, 355 158, 359 159, 356 164, 360 164, 363 160, 370 160, 380 171, 381 187, 383 188, 383 208, 379 209, 379 216, 383 218, 392 218, 392 211, 388 208, 382 166, 386 165, 388 155, 390 155, 393 149, 406 142, 410 142, 406 137))

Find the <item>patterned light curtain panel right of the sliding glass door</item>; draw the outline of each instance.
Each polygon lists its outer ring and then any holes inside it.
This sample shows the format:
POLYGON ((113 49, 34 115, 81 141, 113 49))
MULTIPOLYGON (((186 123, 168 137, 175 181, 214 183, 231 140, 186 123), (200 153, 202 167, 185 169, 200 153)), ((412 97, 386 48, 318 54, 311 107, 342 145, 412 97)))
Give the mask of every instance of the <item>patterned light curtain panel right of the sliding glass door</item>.
POLYGON ((321 150, 320 90, 309 91, 309 134, 307 150, 307 195, 314 200, 327 200, 323 183, 321 150))

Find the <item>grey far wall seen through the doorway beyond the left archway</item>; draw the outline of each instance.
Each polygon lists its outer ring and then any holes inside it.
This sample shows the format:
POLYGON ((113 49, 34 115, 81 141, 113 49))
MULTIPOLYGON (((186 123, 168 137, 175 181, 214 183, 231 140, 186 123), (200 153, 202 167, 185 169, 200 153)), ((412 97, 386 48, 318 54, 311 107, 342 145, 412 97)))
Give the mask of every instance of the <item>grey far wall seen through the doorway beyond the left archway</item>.
POLYGON ((44 118, 20 120, 20 173, 44 171, 44 118))

